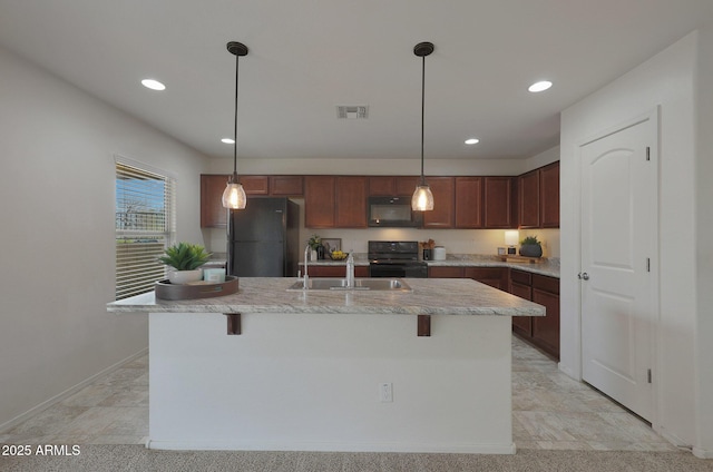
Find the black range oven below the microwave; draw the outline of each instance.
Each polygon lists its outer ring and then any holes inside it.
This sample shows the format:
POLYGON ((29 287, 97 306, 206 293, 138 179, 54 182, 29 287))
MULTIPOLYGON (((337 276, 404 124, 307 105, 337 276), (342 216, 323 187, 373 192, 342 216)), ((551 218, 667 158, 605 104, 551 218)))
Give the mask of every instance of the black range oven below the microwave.
POLYGON ((416 240, 370 240, 369 276, 428 277, 428 265, 419 260, 419 243, 416 240))

